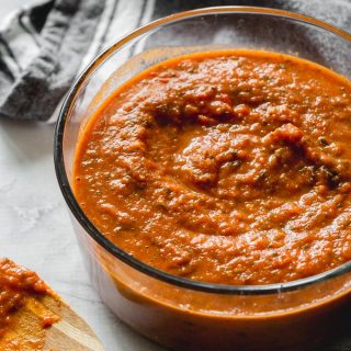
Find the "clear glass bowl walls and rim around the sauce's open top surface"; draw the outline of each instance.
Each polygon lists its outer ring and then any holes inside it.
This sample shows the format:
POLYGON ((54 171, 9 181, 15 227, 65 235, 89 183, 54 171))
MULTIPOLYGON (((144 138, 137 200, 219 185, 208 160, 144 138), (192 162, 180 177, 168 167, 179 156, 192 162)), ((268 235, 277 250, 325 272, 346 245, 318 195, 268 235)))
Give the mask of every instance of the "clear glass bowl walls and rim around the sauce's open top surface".
POLYGON ((109 47, 78 78, 61 109, 55 165, 93 285, 126 324, 173 350, 307 349, 336 329, 351 301, 351 262, 304 280, 214 285, 161 272, 109 241, 71 190, 77 139, 118 86, 167 58, 218 48, 297 55, 351 78, 351 35, 285 11, 225 7, 173 14, 109 47), (337 53, 337 54, 336 54, 337 53))

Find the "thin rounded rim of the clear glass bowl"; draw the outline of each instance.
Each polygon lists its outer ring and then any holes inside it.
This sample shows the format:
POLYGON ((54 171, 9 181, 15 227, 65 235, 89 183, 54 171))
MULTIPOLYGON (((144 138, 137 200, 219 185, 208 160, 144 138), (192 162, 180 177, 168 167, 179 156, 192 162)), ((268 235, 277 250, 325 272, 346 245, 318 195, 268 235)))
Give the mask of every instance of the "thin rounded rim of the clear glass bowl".
POLYGON ((339 265, 332 270, 312 275, 308 278, 284 282, 284 283, 274 283, 267 285, 227 285, 227 284, 213 284, 206 282, 200 282, 190 280, 186 278, 173 275, 171 273, 161 271, 151 265, 148 265, 133 256, 128 254, 117 246, 115 246, 112 241, 110 241, 106 237, 104 237, 94 225, 84 215, 83 211, 80 208, 78 202, 75 199, 73 192, 70 188, 68 177, 65 168, 64 160, 64 136, 65 136, 65 126, 70 115, 72 103, 76 101, 77 93, 80 90, 80 87, 89 79, 90 75, 93 73, 94 69, 99 67, 101 63, 109 58, 114 52, 118 50, 131 41, 144 35, 147 32, 154 31, 158 27, 161 27, 167 24, 176 23, 181 20, 196 18, 208 14, 225 14, 225 13, 242 13, 242 14, 262 14, 265 16, 276 16, 284 18, 290 20, 295 20, 296 22, 306 23, 318 29, 326 30, 331 32, 339 37, 346 39, 351 43, 351 34, 348 32, 340 30, 331 24, 322 22, 320 20, 314 19, 312 16, 307 16, 304 14, 271 9, 271 8, 259 8, 259 7, 211 7, 196 9, 191 11, 183 11, 179 13, 174 13, 156 21, 152 21, 139 29, 134 30, 127 35, 123 36, 114 44, 109 46, 102 53, 100 53, 82 71, 82 73, 75 80, 68 93, 66 94, 65 101, 61 105, 58 121, 55 128, 54 135, 54 162, 55 162, 55 171, 59 188, 64 195, 64 199, 73 214, 75 218, 79 222, 82 228, 89 234, 89 236, 99 244, 103 249, 110 252, 114 258, 123 261, 127 265, 136 269, 137 271, 149 275, 154 279, 163 281, 171 285, 180 286, 183 288, 192 290, 192 291, 201 291, 212 294, 226 294, 226 295, 267 295, 267 294, 276 294, 283 292, 296 291, 302 287, 313 285, 315 283, 320 283, 332 278, 340 276, 348 272, 351 272, 351 261, 339 265))

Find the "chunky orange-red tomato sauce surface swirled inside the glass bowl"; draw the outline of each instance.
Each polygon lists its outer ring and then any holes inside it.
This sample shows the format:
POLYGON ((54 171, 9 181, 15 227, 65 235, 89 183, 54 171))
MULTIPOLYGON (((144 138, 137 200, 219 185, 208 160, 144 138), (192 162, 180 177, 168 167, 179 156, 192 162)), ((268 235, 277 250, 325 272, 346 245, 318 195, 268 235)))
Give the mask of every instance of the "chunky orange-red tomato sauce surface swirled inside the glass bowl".
POLYGON ((351 260, 351 84, 256 50, 162 61, 81 133, 73 188, 140 261, 219 284, 283 283, 351 260))

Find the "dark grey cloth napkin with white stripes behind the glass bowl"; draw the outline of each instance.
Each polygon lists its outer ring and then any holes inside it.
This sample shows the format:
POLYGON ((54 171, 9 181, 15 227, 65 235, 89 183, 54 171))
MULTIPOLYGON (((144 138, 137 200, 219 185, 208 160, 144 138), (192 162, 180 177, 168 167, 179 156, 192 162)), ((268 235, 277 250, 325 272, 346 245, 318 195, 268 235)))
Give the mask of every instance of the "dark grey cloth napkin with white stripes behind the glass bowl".
POLYGON ((42 0, 2 21, 0 116, 54 121, 77 75, 122 35, 178 11, 229 4, 297 11, 351 30, 351 0, 42 0))

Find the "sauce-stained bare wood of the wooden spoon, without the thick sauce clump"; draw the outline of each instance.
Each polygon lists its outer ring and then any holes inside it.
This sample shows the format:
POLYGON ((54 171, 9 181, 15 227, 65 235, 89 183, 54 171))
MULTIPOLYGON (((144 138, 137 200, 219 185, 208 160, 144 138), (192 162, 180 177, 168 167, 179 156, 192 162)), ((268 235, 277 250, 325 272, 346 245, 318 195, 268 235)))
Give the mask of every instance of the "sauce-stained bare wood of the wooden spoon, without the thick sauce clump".
POLYGON ((24 297, 0 337, 0 350, 104 351, 104 348, 87 322, 50 292, 24 297))

